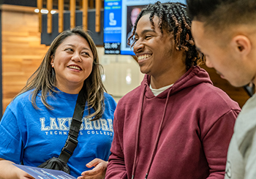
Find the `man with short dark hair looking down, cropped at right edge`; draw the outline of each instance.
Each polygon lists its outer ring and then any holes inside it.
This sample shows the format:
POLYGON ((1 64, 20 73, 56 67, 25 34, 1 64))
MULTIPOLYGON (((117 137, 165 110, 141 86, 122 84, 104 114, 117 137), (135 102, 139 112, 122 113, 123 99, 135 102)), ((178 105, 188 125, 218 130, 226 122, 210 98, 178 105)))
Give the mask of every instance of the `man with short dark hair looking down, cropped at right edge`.
MULTIPOLYGON (((189 0, 195 45, 234 86, 256 84, 256 1, 189 0)), ((238 115, 227 153, 225 178, 256 178, 256 96, 238 115)))

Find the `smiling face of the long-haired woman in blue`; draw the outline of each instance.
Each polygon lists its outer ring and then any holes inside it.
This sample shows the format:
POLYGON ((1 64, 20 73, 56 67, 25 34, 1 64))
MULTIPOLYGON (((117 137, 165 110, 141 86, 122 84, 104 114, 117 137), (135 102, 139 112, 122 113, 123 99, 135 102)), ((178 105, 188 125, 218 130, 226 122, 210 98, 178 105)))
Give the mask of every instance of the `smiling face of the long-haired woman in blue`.
POLYGON ((56 87, 68 94, 78 94, 91 74, 94 55, 86 39, 72 35, 64 39, 51 56, 56 73, 56 87))

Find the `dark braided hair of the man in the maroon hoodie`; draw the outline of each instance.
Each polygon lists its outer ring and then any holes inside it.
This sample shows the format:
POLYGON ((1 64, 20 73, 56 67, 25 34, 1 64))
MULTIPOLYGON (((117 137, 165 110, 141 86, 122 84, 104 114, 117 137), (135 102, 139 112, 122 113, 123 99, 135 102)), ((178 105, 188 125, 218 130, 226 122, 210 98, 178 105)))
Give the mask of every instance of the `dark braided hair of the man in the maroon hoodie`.
POLYGON ((186 5, 179 2, 161 3, 157 1, 155 4, 148 4, 143 8, 135 21, 132 35, 128 39, 128 45, 135 45, 135 31, 137 24, 143 15, 150 14, 149 20, 154 26, 154 15, 159 18, 158 28, 163 33, 163 29, 168 32, 173 32, 173 37, 177 50, 185 50, 186 66, 189 69, 191 66, 203 64, 205 58, 203 53, 200 53, 195 47, 195 42, 191 34, 191 20, 187 15, 186 5))

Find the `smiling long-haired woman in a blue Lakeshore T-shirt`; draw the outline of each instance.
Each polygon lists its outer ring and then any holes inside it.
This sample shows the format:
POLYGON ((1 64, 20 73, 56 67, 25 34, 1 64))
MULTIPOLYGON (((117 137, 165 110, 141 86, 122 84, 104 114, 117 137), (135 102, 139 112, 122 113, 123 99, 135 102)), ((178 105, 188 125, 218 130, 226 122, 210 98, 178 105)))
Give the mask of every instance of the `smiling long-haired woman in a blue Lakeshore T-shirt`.
POLYGON ((64 31, 54 39, 39 68, 1 119, 0 178, 31 178, 12 163, 37 167, 59 156, 83 86, 83 123, 67 164, 74 177, 104 178, 116 102, 104 92, 100 67, 97 48, 82 28, 64 31))

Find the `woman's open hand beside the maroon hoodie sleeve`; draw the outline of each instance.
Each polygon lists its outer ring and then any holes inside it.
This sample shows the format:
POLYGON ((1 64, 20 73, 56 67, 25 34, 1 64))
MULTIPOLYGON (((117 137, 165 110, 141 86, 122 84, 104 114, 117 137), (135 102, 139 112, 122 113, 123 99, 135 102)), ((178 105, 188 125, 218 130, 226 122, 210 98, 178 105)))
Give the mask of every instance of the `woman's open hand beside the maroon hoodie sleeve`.
POLYGON ((78 177, 78 179, 103 179, 105 178, 107 165, 108 161, 94 159, 86 164, 86 167, 94 167, 94 169, 82 172, 82 176, 78 177))

